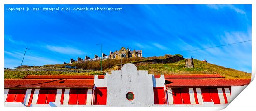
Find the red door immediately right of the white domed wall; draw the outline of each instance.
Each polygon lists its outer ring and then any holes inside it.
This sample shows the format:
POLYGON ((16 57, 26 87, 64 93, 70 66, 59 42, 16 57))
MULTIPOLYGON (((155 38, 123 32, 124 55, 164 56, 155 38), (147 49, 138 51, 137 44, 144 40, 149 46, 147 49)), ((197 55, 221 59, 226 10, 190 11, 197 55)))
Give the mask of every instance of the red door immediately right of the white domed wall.
POLYGON ((165 104, 164 87, 153 87, 154 103, 165 104))

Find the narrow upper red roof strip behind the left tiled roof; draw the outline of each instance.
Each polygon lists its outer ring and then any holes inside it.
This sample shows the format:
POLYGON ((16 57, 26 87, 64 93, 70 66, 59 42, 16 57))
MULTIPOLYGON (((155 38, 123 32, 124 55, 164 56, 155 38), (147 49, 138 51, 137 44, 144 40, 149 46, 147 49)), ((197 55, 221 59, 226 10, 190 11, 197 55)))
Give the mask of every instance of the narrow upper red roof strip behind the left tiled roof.
MULTIPOLYGON (((99 79, 104 79, 105 75, 98 75, 99 79)), ((28 75, 24 79, 94 79, 94 75, 28 75)))

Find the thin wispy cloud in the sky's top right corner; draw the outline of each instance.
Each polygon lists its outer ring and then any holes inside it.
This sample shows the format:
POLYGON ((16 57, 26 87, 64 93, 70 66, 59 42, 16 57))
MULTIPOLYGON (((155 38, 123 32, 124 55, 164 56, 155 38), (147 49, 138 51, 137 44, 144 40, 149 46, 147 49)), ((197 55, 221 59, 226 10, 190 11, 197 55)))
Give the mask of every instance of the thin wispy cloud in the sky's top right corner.
POLYGON ((213 9, 217 9, 217 10, 227 7, 227 8, 229 8, 229 9, 234 10, 234 11, 237 12, 237 13, 245 14, 244 10, 239 9, 239 8, 235 7, 234 5, 208 4, 207 7, 210 7, 210 8, 213 8, 213 9))

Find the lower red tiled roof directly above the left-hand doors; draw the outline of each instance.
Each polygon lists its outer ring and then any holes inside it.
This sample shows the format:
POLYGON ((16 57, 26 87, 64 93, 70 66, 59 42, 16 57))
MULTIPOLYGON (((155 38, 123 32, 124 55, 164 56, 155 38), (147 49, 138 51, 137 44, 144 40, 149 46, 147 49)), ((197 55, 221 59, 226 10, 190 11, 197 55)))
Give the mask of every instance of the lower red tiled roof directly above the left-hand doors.
POLYGON ((93 79, 5 79, 5 87, 92 87, 93 79))

